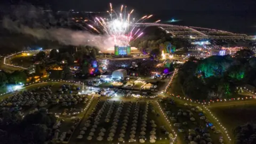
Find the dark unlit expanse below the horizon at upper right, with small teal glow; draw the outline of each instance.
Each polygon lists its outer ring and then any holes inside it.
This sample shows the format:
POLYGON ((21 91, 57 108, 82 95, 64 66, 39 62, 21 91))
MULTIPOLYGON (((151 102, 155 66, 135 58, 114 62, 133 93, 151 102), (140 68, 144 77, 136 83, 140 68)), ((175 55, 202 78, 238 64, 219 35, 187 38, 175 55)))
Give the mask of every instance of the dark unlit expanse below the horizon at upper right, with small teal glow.
POLYGON ((173 25, 195 26, 256 35, 256 12, 250 11, 166 11, 155 17, 173 25))

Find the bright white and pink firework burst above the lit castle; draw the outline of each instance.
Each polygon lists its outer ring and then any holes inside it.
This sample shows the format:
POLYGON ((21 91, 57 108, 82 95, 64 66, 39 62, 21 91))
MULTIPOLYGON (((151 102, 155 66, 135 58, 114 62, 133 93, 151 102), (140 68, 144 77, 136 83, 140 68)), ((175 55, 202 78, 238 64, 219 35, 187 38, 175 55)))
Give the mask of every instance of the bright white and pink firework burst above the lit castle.
POLYGON ((111 3, 109 6, 110 10, 107 11, 109 18, 96 17, 94 21, 98 23, 98 27, 93 27, 91 25, 89 25, 89 27, 98 33, 111 36, 115 45, 129 45, 131 41, 134 41, 138 37, 142 36, 143 29, 135 27, 134 24, 137 22, 143 22, 153 17, 152 14, 145 15, 137 20, 136 18, 132 18, 132 13, 134 10, 127 12, 126 6, 122 5, 118 11, 115 11, 111 3))

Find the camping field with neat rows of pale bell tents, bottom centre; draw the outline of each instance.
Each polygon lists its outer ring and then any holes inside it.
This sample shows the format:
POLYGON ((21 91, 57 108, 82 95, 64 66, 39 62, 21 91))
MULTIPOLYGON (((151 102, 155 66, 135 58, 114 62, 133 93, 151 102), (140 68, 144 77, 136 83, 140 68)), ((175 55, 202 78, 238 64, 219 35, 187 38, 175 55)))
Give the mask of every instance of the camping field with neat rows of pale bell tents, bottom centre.
POLYGON ((78 125, 72 143, 169 143, 169 126, 151 102, 98 100, 78 125))

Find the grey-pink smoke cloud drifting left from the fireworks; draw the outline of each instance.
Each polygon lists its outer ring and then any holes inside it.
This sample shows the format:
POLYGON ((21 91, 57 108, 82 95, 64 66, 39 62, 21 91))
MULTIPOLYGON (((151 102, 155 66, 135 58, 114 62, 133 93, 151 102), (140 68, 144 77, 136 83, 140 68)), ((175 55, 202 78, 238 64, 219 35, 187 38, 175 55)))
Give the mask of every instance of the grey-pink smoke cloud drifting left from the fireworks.
POLYGON ((15 33, 31 35, 37 39, 58 41, 63 45, 97 46, 101 51, 114 47, 114 39, 109 35, 96 35, 89 31, 52 27, 49 23, 57 22, 54 17, 47 14, 47 19, 42 19, 45 13, 34 6, 21 6, 13 14, 14 18, 13 15, 12 18, 4 17, 3 27, 15 33))

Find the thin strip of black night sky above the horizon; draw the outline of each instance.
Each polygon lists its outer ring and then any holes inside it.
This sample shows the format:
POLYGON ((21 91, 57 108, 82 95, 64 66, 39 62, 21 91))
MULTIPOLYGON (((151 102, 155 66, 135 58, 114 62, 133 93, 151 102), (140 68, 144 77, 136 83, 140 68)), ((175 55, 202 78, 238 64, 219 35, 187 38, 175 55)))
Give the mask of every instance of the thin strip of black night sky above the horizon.
MULTIPOLYGON (((109 2, 113 6, 126 4, 142 12, 159 12, 168 10, 189 11, 256 11, 255 0, 23 0, 33 5, 50 6, 55 10, 105 11, 109 2)), ((4 4, 17 4, 20 0, 1 0, 4 4)))

